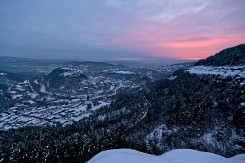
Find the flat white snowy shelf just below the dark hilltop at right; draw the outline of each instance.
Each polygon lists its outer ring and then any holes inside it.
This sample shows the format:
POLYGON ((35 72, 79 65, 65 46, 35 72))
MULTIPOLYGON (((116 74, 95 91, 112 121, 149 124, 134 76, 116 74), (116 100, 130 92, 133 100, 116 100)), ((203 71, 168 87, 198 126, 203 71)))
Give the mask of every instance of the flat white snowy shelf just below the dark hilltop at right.
POLYGON ((191 74, 220 75, 225 78, 239 76, 245 78, 245 66, 194 66, 187 71, 191 74))

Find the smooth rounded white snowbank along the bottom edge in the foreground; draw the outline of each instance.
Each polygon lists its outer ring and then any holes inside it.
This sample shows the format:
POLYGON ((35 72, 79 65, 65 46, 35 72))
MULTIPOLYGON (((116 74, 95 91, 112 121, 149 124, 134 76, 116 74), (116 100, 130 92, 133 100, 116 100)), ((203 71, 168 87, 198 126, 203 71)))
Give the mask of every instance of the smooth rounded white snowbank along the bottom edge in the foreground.
POLYGON ((244 163, 245 154, 225 158, 213 153, 191 149, 176 149, 154 156, 132 149, 116 149, 100 152, 88 163, 244 163))

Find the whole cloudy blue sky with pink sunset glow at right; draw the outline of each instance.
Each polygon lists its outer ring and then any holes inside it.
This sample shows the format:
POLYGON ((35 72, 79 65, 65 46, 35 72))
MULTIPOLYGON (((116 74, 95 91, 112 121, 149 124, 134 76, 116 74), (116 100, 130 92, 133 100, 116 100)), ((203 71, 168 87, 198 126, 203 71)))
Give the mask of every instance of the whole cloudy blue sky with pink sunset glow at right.
POLYGON ((2 0, 0 56, 197 60, 245 43, 244 0, 2 0))

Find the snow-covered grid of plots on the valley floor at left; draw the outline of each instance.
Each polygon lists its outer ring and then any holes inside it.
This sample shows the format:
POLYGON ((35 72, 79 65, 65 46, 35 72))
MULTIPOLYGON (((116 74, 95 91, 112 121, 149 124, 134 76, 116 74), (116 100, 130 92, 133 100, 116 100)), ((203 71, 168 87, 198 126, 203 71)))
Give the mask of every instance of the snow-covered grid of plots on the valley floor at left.
POLYGON ((0 113, 0 130, 5 131, 24 126, 55 125, 58 122, 65 126, 89 117, 94 110, 110 104, 103 101, 99 101, 99 103, 99 105, 93 106, 90 110, 87 109, 85 104, 79 103, 79 105, 73 106, 25 108, 23 110, 12 107, 7 113, 0 113))

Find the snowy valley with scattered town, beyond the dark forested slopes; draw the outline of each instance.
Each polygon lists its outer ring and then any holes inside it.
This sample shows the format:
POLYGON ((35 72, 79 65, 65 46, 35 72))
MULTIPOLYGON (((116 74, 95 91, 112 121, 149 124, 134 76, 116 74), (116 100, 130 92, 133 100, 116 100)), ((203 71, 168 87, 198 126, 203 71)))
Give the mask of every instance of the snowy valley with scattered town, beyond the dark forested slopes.
MULTIPOLYGON (((23 78, 22 82, 9 78, 8 72, 1 73, 1 84, 13 84, 6 85, 5 93, 9 94, 9 99, 4 102, 10 103, 11 107, 0 109, 0 130, 33 125, 65 126, 78 122, 96 109, 110 105, 118 93, 142 89, 147 82, 167 78, 173 71, 190 65, 143 69, 107 63, 72 62, 53 70, 50 65, 42 73, 37 73, 33 68, 38 78, 23 78)), ((29 66, 32 69, 32 65, 29 66)))

